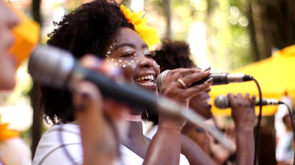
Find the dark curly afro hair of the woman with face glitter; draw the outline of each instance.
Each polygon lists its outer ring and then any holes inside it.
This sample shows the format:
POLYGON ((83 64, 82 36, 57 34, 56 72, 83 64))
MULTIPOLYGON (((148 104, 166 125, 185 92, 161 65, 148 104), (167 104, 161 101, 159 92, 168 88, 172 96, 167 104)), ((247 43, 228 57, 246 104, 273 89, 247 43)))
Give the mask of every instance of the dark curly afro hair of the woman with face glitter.
MULTIPOLYGON (((81 5, 75 11, 53 23, 58 26, 48 34, 48 45, 58 46, 70 51, 75 58, 91 53, 105 58, 106 48, 120 27, 134 30, 128 23, 115 1, 95 0, 81 5)), ((72 95, 68 90, 41 87, 41 110, 45 121, 55 124, 72 122, 72 95)))

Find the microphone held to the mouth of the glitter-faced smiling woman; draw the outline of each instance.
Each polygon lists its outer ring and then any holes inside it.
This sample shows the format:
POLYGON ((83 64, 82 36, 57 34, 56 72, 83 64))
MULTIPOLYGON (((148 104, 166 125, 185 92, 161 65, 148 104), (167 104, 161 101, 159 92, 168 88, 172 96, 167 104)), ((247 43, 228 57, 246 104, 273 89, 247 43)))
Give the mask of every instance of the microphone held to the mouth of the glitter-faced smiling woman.
MULTIPOLYGON (((161 88, 166 75, 168 74, 170 70, 165 70, 164 72, 160 73, 156 79, 157 87, 158 89, 161 88)), ((241 83, 241 82, 246 82, 246 81, 251 81, 253 80, 253 77, 250 75, 245 75, 243 73, 234 73, 234 74, 229 74, 229 73, 210 73, 207 77, 203 78, 202 80, 193 83, 191 86, 194 85, 200 85, 204 83, 206 80, 209 78, 213 78, 213 83, 212 85, 224 85, 224 84, 229 84, 229 83, 241 83)))

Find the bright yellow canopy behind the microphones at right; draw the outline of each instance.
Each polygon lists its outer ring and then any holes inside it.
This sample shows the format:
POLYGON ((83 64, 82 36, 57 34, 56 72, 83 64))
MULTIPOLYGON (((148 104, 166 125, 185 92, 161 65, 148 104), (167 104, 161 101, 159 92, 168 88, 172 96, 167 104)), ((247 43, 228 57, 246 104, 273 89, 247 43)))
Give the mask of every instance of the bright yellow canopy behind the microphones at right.
MULTIPOLYGON (((263 98, 280 99, 285 92, 295 98, 295 45, 276 51, 270 58, 251 63, 245 67, 233 70, 230 73, 245 73, 252 75, 259 83, 263 98)), ((227 93, 249 93, 258 98, 258 88, 253 81, 245 83, 232 83, 211 87, 212 102, 218 95, 227 93)), ((273 115, 278 106, 263 106, 262 115, 273 115)), ((212 107, 214 115, 230 115, 230 108, 219 110, 212 107)), ((256 107, 258 114, 258 106, 256 107)))

